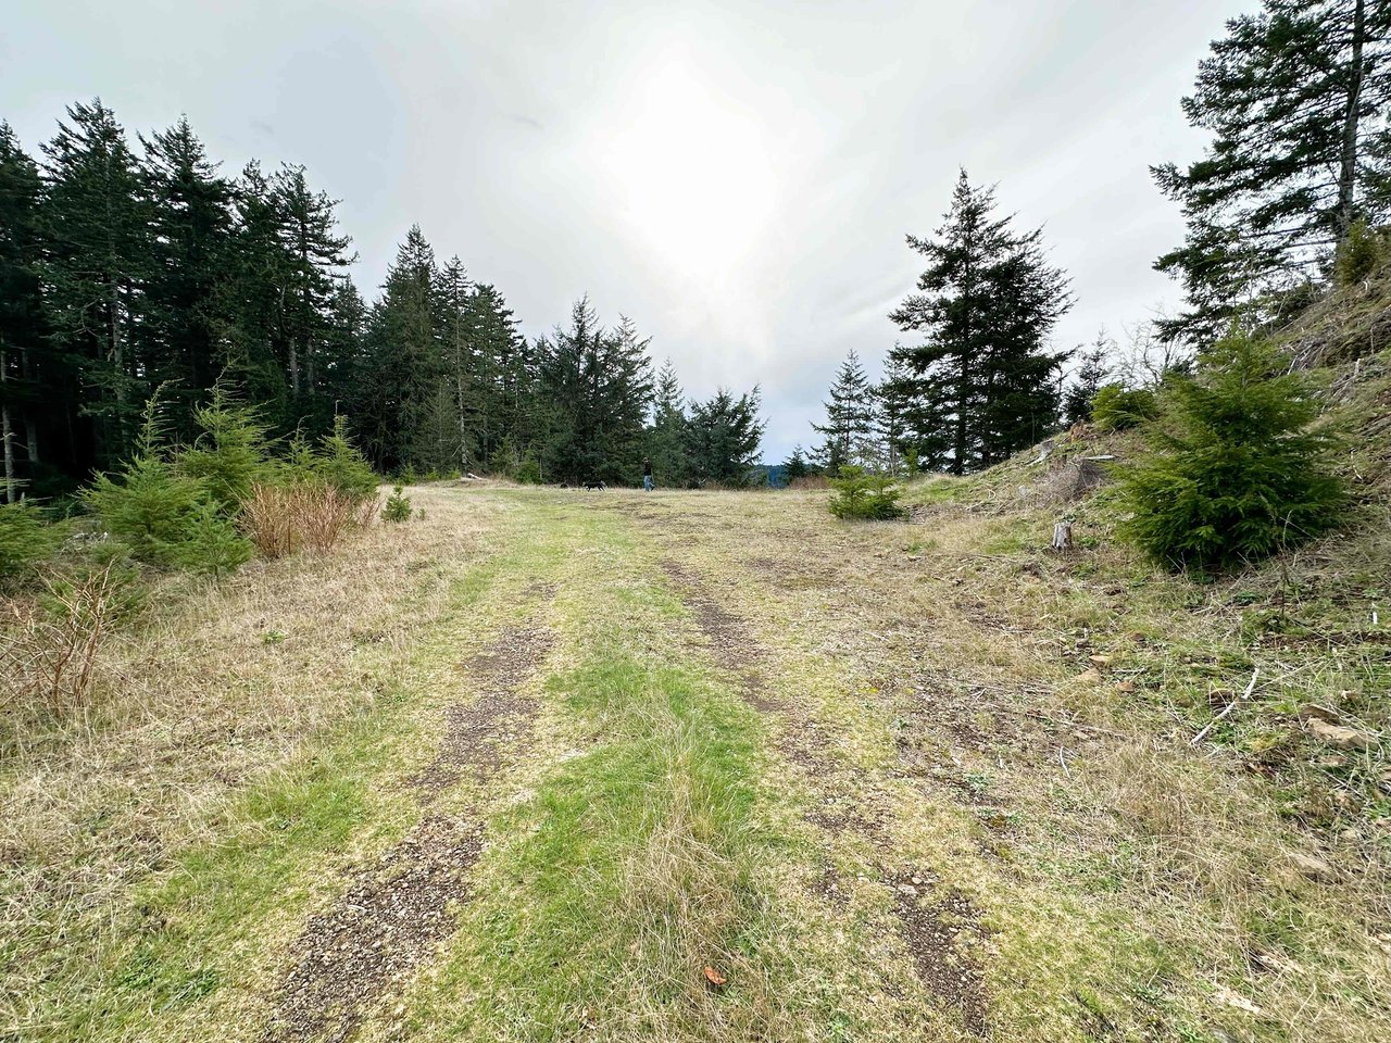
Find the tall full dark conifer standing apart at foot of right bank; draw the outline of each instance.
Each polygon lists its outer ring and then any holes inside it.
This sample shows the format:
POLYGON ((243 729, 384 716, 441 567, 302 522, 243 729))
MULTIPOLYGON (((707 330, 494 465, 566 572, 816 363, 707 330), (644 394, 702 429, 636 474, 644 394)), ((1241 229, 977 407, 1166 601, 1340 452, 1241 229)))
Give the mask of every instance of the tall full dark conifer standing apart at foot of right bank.
POLYGON ((890 316, 928 337, 899 357, 918 380, 924 412, 950 427, 944 463, 956 474, 1002 460, 1056 424, 1056 373, 1067 359, 1046 349, 1071 306, 1067 278, 1043 257, 1042 232, 1015 234, 993 209, 993 191, 961 171, 938 238, 908 236, 929 267, 921 292, 890 316))

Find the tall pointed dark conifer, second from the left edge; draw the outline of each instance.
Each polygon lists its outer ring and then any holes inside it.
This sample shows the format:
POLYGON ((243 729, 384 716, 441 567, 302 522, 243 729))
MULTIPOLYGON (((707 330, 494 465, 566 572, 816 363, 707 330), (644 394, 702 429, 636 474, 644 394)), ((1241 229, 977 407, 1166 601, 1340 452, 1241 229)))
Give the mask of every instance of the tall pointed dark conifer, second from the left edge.
POLYGON ((54 348, 83 389, 83 464, 114 466, 135 448, 153 392, 138 339, 152 256, 149 211, 115 114, 74 104, 43 146, 46 316, 54 348))

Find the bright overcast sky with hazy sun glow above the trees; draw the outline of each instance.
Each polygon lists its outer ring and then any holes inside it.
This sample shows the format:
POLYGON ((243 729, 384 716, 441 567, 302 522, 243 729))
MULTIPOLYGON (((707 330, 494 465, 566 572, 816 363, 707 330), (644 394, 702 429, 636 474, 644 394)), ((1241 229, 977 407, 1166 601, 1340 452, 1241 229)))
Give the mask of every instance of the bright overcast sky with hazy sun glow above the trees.
POLYGON ((1182 238, 1149 165, 1256 0, 10 0, 0 118, 38 154, 75 100, 128 134, 186 114, 235 174, 300 163, 342 203, 364 296, 412 224, 529 335, 587 293, 687 394, 762 388, 765 459, 811 445, 961 168, 1042 227, 1060 348, 1171 309, 1182 238))

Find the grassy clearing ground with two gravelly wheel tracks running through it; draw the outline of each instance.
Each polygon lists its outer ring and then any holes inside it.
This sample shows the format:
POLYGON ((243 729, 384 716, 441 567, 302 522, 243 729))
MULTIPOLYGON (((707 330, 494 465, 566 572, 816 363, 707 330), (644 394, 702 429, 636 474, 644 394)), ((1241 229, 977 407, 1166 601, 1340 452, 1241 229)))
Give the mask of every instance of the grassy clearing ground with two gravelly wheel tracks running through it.
POLYGON ((1391 1039, 1385 837, 1145 698, 1177 581, 1043 513, 408 492, 0 768, 0 1036, 1391 1039))

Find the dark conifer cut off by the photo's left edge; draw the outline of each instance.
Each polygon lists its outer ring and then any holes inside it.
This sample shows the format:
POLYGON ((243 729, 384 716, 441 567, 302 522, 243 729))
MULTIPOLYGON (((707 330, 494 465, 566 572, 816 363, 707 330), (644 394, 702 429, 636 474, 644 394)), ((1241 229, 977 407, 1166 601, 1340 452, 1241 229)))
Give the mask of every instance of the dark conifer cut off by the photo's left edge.
POLYGON ((0 439, 4 501, 32 483, 39 463, 40 414, 67 398, 57 374, 43 384, 46 343, 39 288, 39 168, 0 122, 0 439), (40 394, 45 401, 40 402, 40 394), (51 398, 50 398, 51 396, 51 398), (22 431, 21 431, 22 427, 22 431))

